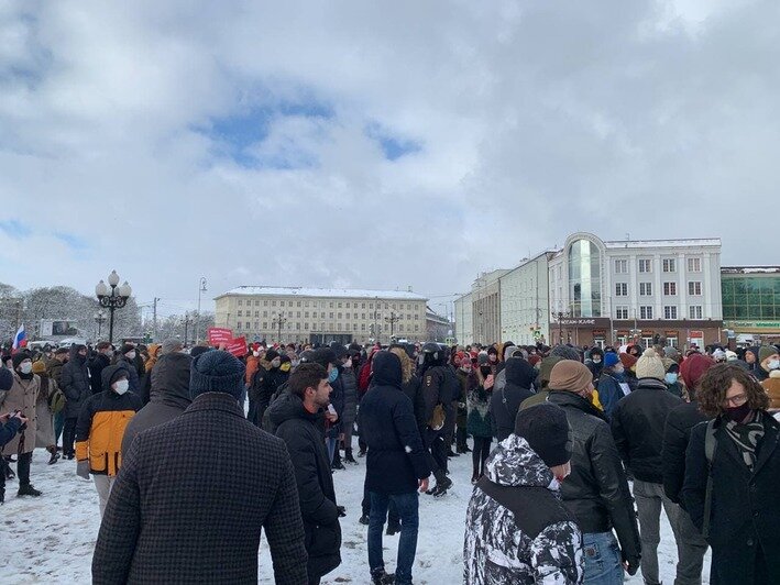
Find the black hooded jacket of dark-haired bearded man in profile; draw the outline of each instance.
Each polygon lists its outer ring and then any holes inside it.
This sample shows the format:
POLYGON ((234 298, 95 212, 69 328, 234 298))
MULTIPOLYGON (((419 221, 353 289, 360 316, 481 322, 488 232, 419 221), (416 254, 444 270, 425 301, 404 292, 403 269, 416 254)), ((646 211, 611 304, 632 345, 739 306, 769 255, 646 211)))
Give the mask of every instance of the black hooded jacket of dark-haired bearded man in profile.
POLYGON ((286 391, 268 407, 268 416, 277 426, 276 437, 287 445, 295 467, 309 577, 322 576, 341 564, 339 510, 328 451, 319 430, 323 412, 312 415, 300 398, 286 391))

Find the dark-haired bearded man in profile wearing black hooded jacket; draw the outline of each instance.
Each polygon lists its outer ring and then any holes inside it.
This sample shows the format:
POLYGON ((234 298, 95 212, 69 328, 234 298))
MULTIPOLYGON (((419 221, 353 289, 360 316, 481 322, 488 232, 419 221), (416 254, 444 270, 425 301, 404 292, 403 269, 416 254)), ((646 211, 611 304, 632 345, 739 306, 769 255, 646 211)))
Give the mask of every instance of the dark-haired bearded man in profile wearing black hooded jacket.
POLYGON ((295 468, 300 515, 309 555, 309 584, 341 564, 341 526, 328 452, 318 422, 330 404, 327 371, 319 364, 301 364, 290 375, 289 391, 268 407, 276 437, 287 445, 295 468))

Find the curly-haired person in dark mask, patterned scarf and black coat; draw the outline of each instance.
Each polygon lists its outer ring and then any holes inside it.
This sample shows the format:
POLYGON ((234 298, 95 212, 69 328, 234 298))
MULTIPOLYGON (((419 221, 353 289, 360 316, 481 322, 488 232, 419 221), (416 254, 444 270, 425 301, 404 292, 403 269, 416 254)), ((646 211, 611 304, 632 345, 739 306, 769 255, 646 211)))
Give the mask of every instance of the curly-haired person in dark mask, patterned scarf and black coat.
POLYGON ((712 583, 780 583, 780 423, 744 368, 711 367, 696 393, 713 420, 691 431, 682 500, 712 547, 712 583))

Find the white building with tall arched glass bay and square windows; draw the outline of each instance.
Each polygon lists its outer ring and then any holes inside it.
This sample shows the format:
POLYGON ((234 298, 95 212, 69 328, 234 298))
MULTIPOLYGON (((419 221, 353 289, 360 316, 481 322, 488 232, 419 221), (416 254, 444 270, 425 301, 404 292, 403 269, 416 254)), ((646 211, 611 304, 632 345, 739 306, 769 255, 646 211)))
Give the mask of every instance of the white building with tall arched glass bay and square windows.
POLYGON ((551 339, 578 345, 722 340, 721 241, 575 233, 549 262, 551 339))

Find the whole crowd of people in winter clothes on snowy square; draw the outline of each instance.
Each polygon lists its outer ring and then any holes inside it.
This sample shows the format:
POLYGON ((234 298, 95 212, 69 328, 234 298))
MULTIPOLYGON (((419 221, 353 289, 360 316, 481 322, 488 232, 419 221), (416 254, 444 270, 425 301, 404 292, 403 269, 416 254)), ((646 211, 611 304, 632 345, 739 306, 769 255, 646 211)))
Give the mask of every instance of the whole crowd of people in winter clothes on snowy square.
POLYGON ((702 582, 708 549, 712 583, 780 582, 774 345, 222 350, 4 353, 0 503, 14 477, 19 497, 42 495, 30 477, 42 448, 95 484, 95 583, 256 582, 262 530, 276 582, 316 584, 341 563, 333 474, 363 460, 352 512, 375 584, 411 583, 419 495, 469 481, 468 584, 617 584, 637 571, 658 584, 662 511, 675 583, 702 582), (469 453, 471 477, 452 476, 449 461, 469 453), (395 533, 389 573, 383 536, 395 533))

